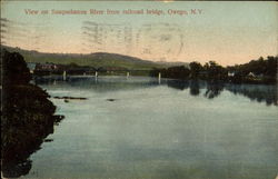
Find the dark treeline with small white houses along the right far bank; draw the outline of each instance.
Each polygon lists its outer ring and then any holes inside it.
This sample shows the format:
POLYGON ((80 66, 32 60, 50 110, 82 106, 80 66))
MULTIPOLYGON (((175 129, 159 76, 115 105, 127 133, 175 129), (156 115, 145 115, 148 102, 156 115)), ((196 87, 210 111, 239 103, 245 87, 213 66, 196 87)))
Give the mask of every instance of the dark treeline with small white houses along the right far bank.
POLYGON ((251 60, 248 63, 222 67, 215 61, 203 66, 197 61, 189 67, 179 66, 165 69, 152 69, 150 76, 172 79, 201 79, 208 81, 224 81, 234 83, 275 83, 278 57, 267 57, 251 60))

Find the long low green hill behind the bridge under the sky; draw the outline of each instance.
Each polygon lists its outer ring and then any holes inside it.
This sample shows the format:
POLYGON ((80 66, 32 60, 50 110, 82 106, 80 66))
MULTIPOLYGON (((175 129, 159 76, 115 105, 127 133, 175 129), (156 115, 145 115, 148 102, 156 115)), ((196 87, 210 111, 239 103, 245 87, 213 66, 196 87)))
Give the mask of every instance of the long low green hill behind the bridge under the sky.
POLYGON ((44 53, 34 50, 23 50, 20 48, 2 47, 9 51, 20 52, 27 62, 53 62, 59 64, 76 63, 79 66, 90 66, 95 68, 99 67, 113 67, 113 68, 126 68, 130 70, 150 70, 152 68, 168 68, 172 66, 187 66, 188 63, 182 62, 153 62, 142 60, 136 57, 96 52, 90 54, 79 53, 44 53))

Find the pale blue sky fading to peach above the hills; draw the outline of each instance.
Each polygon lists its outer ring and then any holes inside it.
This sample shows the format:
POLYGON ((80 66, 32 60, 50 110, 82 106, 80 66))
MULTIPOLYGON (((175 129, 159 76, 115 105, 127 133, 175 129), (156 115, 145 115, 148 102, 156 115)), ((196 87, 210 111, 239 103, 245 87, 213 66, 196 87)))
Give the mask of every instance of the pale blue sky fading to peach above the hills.
POLYGON ((228 66, 277 56, 277 4, 275 1, 1 1, 1 42, 41 52, 101 51, 152 61, 214 60, 228 66), (80 13, 58 13, 69 10, 80 13), (108 14, 108 10, 113 14, 108 14), (133 14, 123 13, 125 10, 133 14), (140 11, 143 14, 135 13, 140 11))

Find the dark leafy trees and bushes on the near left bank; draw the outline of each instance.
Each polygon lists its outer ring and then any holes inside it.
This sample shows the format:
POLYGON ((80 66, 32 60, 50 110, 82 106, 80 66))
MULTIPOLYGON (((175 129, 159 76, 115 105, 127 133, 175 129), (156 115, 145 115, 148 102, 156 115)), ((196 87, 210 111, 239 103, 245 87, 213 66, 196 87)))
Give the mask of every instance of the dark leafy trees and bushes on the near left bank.
POLYGON ((23 57, 1 49, 1 171, 17 178, 29 172, 29 156, 53 132, 62 117, 41 88, 29 83, 31 74, 23 57))

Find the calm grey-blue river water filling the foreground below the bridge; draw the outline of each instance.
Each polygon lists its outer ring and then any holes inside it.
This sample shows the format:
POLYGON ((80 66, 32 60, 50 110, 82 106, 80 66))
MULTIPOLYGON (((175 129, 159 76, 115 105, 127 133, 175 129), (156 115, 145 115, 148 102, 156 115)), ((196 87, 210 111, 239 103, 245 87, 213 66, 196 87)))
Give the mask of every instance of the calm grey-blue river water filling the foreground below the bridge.
POLYGON ((23 178, 275 179, 274 86, 131 77, 40 84, 66 118, 23 178), (108 99, 113 99, 109 101, 108 99))

